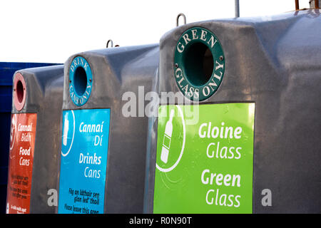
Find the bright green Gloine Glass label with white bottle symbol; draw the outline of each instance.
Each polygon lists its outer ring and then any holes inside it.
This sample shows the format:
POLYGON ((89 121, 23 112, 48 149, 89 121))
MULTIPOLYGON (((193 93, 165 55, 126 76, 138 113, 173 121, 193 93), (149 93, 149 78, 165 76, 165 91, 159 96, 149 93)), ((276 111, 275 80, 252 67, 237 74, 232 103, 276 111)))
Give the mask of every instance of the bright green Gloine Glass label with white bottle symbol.
POLYGON ((153 212, 252 213, 254 113, 254 103, 161 105, 153 212))

